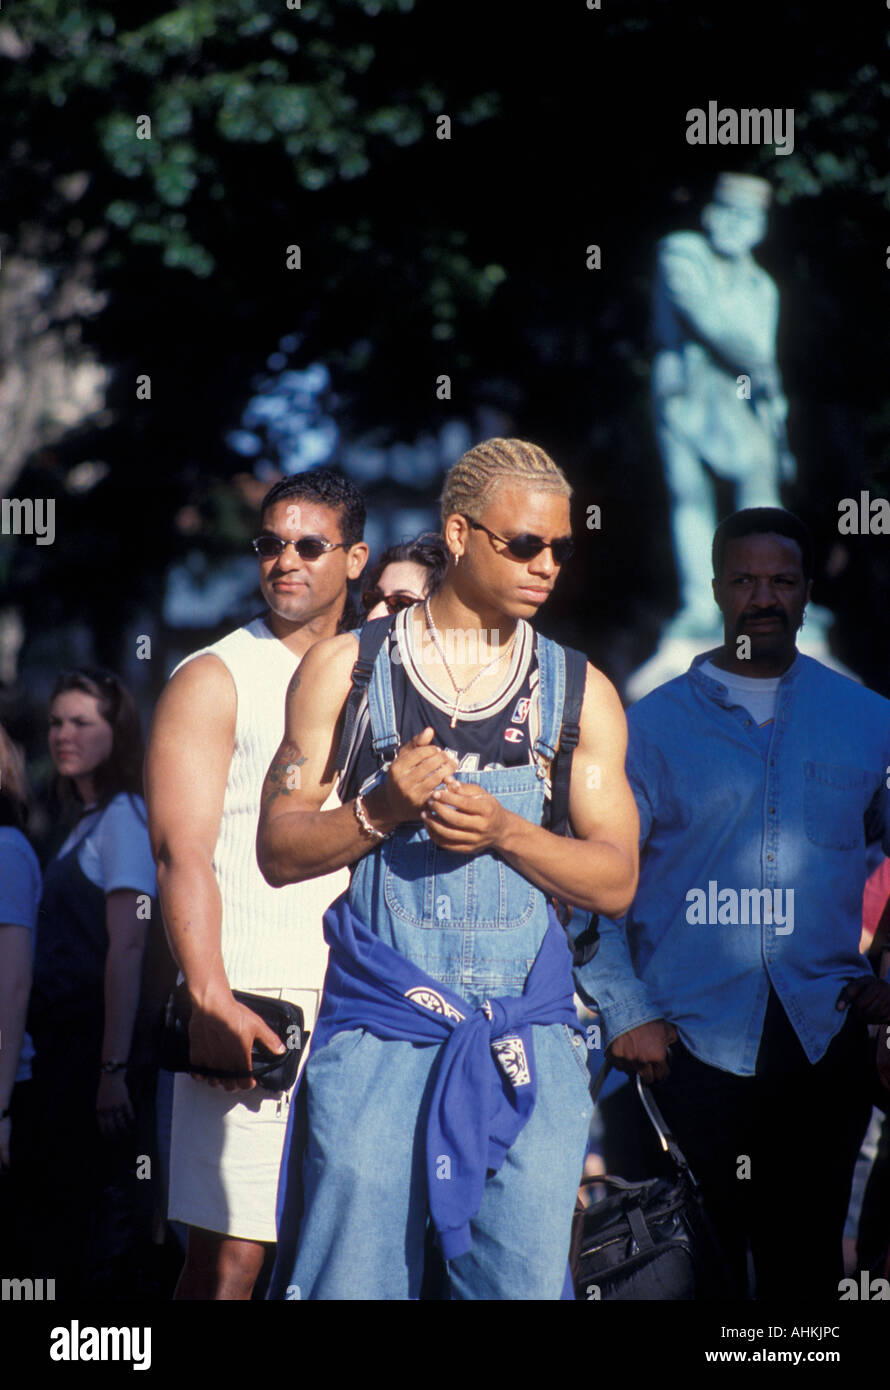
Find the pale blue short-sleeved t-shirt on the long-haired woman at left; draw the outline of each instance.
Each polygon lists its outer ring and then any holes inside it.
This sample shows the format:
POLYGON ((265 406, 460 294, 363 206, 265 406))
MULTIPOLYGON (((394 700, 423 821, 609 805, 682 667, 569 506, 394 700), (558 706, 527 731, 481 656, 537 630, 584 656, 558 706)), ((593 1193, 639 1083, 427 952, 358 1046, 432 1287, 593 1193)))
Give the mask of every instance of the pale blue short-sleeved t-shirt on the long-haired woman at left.
POLYGON ((118 792, 106 806, 104 815, 99 810, 86 812, 57 858, 61 859, 79 845, 78 865, 89 881, 103 892, 134 888, 136 892, 154 897, 157 876, 149 844, 149 827, 143 817, 142 796, 118 792))

